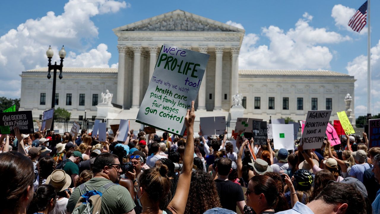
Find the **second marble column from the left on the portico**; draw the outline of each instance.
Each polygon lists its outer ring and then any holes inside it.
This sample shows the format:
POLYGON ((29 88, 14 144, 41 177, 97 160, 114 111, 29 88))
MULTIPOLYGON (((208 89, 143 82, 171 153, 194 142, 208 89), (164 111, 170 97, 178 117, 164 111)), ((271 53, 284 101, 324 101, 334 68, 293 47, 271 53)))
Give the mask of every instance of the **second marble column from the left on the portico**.
POLYGON ((132 108, 140 107, 140 63, 141 63, 141 45, 133 45, 133 94, 132 94, 132 108))

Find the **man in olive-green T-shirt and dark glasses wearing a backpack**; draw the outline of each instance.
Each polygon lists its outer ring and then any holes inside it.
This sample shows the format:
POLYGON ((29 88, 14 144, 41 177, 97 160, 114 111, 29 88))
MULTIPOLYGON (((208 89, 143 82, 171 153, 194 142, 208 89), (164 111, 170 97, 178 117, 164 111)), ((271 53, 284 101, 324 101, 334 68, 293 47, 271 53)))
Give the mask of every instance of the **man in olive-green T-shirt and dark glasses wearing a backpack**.
MULTIPOLYGON (((116 183, 119 179, 120 169, 119 157, 111 153, 103 153, 96 157, 92 172, 94 177, 87 181, 86 185, 91 185, 95 190, 101 186, 113 182, 116 183)), ((90 187, 91 188, 91 187, 90 187)), ((78 188, 74 189, 67 203, 66 209, 72 213, 76 203, 81 197, 78 188)), ((103 193, 101 197, 101 213, 102 214, 135 214, 135 203, 128 190, 121 185, 113 185, 103 193)))

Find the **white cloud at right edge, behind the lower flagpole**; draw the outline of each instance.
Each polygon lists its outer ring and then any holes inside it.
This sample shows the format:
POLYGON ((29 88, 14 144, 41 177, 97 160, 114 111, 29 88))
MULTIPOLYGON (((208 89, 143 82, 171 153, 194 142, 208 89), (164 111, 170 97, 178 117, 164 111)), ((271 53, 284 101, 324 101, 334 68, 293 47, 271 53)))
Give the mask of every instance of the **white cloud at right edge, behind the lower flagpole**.
MULTIPOLYGON (((371 113, 380 113, 380 101, 378 95, 380 94, 380 74, 376 71, 380 69, 380 40, 371 48, 371 71, 372 71, 372 83, 371 83, 371 113)), ((347 63, 346 67, 348 74, 355 76, 355 116, 361 116, 367 114, 367 108, 363 110, 363 106, 358 108, 359 104, 365 104, 367 106, 367 56, 359 55, 351 62, 347 63), (356 109, 359 109, 356 112, 356 109)))

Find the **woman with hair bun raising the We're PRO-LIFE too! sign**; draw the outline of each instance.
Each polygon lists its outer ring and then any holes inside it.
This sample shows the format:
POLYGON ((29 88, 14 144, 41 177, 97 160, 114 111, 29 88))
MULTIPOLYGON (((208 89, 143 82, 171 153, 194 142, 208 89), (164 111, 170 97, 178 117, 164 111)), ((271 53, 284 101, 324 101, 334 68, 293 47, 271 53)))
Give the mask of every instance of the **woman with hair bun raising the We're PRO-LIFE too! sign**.
POLYGON ((194 101, 191 111, 187 110, 185 126, 187 128, 186 146, 183 156, 182 171, 178 178, 176 194, 168 203, 171 195, 171 181, 168 177, 169 168, 165 164, 160 167, 144 170, 138 177, 137 201, 143 213, 183 214, 185 212, 190 189, 194 153, 194 101), (165 205, 168 206, 165 207, 165 205), (162 210, 162 211, 161 211, 162 210))

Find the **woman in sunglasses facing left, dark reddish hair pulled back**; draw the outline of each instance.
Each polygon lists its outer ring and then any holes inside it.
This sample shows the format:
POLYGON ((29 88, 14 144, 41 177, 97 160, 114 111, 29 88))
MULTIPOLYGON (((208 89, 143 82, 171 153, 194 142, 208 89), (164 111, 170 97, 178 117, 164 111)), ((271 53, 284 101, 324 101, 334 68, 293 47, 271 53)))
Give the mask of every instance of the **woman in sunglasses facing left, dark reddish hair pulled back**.
POLYGON ((274 214, 289 209, 282 192, 277 191, 276 182, 267 175, 253 176, 245 192, 247 206, 244 213, 252 208, 256 214, 274 214))

